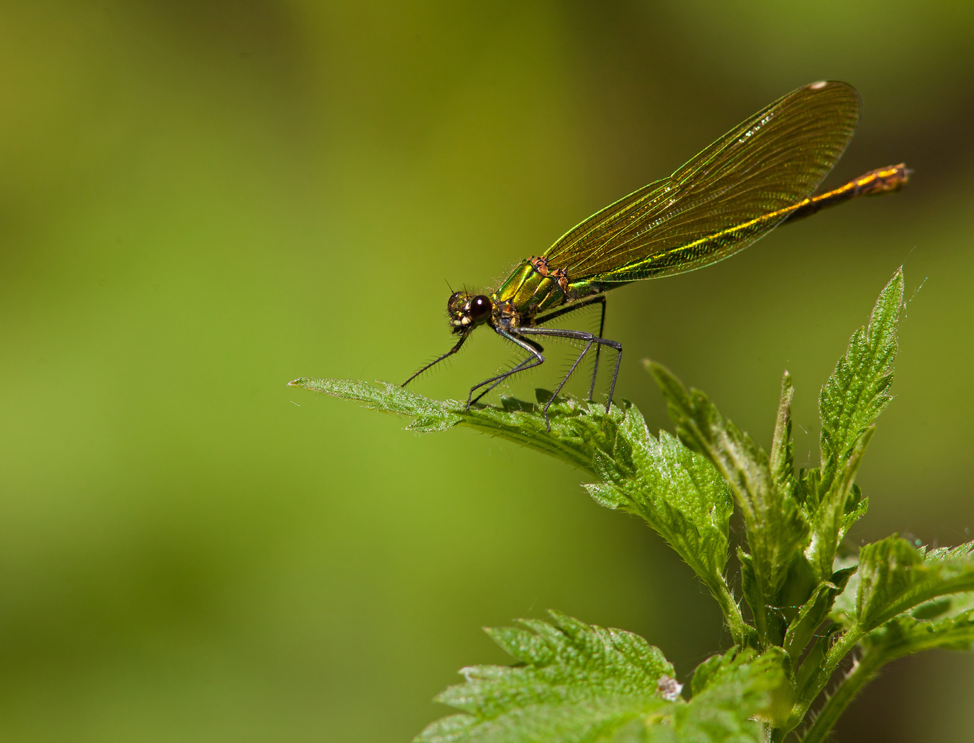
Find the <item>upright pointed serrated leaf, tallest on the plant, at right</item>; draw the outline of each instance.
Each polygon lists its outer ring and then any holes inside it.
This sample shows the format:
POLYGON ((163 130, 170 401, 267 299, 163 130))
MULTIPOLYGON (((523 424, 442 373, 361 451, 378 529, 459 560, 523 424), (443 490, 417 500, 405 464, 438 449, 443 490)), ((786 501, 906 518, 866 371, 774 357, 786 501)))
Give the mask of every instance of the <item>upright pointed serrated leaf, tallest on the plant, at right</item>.
POLYGON ((856 330, 835 371, 822 387, 820 491, 825 493, 857 442, 889 402, 896 355, 896 328, 903 306, 903 269, 880 292, 869 324, 856 330))

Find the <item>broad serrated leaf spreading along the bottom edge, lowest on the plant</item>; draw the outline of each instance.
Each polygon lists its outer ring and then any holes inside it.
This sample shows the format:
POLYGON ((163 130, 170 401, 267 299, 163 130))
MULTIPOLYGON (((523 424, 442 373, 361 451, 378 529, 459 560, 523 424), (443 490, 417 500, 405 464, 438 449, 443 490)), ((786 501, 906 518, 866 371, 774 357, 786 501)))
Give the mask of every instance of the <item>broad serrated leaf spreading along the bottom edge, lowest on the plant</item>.
POLYGON ((518 664, 465 668, 466 683, 437 697, 461 714, 415 743, 761 743, 753 718, 786 686, 780 651, 717 656, 686 702, 673 667, 642 638, 550 615, 488 630, 518 664))

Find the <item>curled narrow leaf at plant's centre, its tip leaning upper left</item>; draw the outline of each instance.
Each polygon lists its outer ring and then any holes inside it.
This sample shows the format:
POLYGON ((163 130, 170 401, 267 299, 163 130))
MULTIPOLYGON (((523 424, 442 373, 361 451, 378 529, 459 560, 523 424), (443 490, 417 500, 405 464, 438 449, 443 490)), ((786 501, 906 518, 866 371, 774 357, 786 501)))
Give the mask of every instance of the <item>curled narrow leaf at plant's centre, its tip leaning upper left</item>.
POLYGON ((803 511, 777 487, 768 455, 725 421, 706 394, 687 390, 664 366, 653 361, 645 364, 666 398, 680 440, 709 459, 731 486, 744 515, 750 550, 750 559, 742 565, 744 595, 762 641, 778 644, 778 620, 768 614, 768 608, 774 606, 789 566, 804 546, 808 527, 803 511))

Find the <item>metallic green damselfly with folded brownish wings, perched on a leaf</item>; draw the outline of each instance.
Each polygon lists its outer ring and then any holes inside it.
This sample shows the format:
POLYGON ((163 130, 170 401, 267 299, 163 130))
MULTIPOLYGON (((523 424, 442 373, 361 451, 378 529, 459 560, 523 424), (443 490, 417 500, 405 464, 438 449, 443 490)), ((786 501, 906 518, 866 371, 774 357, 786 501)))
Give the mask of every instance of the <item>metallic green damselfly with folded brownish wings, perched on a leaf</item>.
POLYGON ((734 127, 668 178, 609 204, 565 233, 543 255, 522 261, 496 291, 453 292, 447 312, 451 329, 459 336, 456 344, 403 387, 460 351, 474 329, 487 325, 528 355, 470 388, 468 407, 511 375, 543 364, 541 340, 568 338, 583 346, 545 403, 545 422, 551 401, 593 346, 589 400, 602 347, 616 351, 608 411, 622 346, 602 337, 605 292, 631 281, 709 266, 783 222, 858 196, 897 191, 907 182, 910 171, 901 163, 870 170, 839 188, 810 196, 843 154, 860 108, 859 94, 846 83, 823 81, 792 91, 734 127), (544 327, 591 305, 601 306, 598 335, 544 327))

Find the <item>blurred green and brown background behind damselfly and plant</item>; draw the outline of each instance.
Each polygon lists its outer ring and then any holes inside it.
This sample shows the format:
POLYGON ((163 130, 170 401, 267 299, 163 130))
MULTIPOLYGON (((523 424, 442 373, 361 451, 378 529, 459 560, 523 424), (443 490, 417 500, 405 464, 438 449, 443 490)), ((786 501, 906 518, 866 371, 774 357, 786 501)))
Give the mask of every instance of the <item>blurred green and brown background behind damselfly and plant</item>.
MULTIPOLYGON (((580 473, 284 385, 405 379, 448 348, 446 281, 490 286, 818 79, 865 104, 829 182, 914 182, 615 292, 618 394, 667 426, 653 356, 767 445, 787 367, 805 464, 903 264, 854 536, 970 539, 972 28, 907 0, 0 2, 0 737, 405 741, 503 661, 481 625, 548 607, 686 679, 718 613, 580 473)), ((415 389, 465 394, 510 358, 488 335, 415 389)), ((902 661, 838 738, 967 739, 972 691, 970 656, 902 661)))

